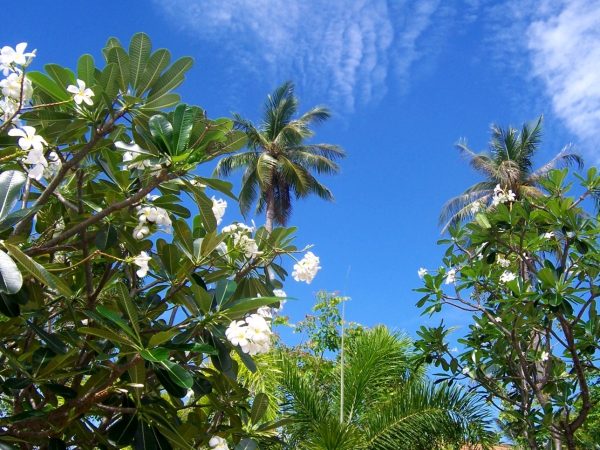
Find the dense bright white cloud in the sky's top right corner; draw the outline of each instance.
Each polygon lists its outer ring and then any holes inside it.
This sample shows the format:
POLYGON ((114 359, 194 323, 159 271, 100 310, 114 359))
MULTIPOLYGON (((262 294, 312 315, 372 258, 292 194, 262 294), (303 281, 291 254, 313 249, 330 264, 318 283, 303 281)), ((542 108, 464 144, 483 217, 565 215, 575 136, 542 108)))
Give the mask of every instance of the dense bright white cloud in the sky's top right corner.
POLYGON ((600 2, 545 1, 527 30, 533 74, 555 113, 589 144, 600 144, 600 2), (540 16, 538 16, 540 17, 540 16))

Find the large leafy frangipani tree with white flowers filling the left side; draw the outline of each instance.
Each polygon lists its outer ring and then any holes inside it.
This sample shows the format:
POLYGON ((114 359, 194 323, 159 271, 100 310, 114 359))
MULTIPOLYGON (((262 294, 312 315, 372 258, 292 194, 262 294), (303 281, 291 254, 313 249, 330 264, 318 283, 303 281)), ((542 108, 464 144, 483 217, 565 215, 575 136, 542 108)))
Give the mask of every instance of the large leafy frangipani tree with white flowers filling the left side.
POLYGON ((3 60, 21 84, 0 128, 0 446, 276 442, 278 424, 254 426, 265 398, 236 381, 255 364, 224 332, 279 304, 295 229, 218 232, 209 192, 236 200, 231 184, 193 171, 246 136, 180 103, 192 58, 143 33, 102 54, 76 73, 3 60))

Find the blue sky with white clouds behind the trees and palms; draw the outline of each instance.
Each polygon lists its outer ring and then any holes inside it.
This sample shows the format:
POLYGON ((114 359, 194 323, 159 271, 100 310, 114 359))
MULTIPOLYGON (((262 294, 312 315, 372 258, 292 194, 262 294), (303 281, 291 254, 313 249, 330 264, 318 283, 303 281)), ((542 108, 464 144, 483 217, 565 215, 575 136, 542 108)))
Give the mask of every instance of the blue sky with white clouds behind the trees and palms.
MULTIPOLYGON (((297 83, 300 110, 335 117, 315 141, 342 146, 342 174, 323 179, 337 199, 296 203, 297 244, 314 244, 322 270, 311 285, 285 283, 298 320, 313 293, 345 291, 347 319, 414 334, 417 270, 440 265, 437 219, 447 199, 479 181, 453 144, 482 151, 492 122, 545 118, 538 165, 573 144, 587 166, 600 156, 600 2, 597 0, 24 0, 23 26, 1 45, 37 49, 75 69, 117 37, 147 33, 154 48, 195 65, 178 89, 211 118, 255 122, 273 88, 297 83), (346 277, 349 277, 346 283, 346 277)), ((213 167, 205 167, 208 174, 213 167)), ((232 181, 234 181, 233 179, 232 181)), ((230 202, 224 220, 238 220, 230 202)), ((263 218, 255 219, 257 224, 263 218)), ((291 272, 292 263, 288 264, 291 272)), ((459 323, 448 313, 446 322, 459 323)))

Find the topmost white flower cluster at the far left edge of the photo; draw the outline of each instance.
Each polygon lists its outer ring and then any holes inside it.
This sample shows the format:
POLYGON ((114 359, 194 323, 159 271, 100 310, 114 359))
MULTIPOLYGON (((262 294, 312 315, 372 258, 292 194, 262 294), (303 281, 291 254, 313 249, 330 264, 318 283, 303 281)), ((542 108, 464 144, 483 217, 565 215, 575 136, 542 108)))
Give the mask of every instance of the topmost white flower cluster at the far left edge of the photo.
POLYGON ((20 125, 17 114, 20 107, 24 103, 29 103, 33 95, 33 86, 31 81, 25 78, 23 69, 35 56, 35 50, 25 53, 26 47, 27 44, 22 42, 16 49, 5 46, 0 50, 0 71, 6 77, 0 81, 4 96, 0 99, 0 119, 2 122, 12 119, 15 125, 20 125))

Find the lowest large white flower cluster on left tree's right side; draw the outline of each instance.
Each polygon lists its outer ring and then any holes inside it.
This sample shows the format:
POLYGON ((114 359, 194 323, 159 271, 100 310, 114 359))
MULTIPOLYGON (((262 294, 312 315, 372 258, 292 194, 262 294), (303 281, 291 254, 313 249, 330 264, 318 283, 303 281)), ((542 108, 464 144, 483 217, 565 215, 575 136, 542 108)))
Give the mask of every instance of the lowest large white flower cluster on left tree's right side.
POLYGON ((239 345, 244 353, 254 356, 271 349, 271 328, 260 314, 252 314, 246 320, 234 320, 225 331, 232 345, 239 345))

